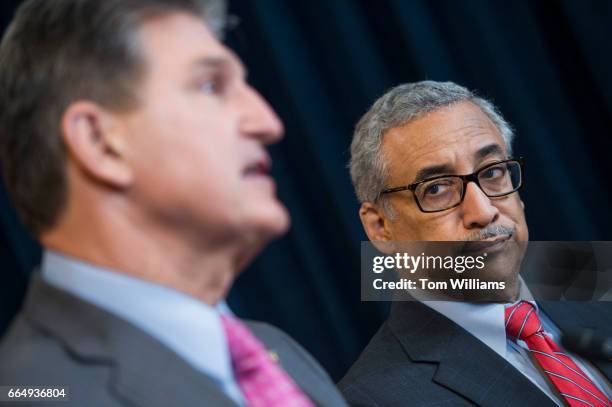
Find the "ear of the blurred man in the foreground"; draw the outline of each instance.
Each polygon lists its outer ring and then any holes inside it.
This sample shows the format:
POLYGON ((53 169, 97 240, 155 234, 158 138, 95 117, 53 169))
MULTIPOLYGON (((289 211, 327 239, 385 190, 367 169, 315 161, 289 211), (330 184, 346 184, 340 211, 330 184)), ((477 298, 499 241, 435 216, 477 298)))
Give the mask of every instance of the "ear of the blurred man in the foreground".
POLYGON ((116 114, 89 101, 72 103, 61 120, 70 158, 89 177, 115 188, 127 188, 133 173, 125 160, 125 133, 116 114))

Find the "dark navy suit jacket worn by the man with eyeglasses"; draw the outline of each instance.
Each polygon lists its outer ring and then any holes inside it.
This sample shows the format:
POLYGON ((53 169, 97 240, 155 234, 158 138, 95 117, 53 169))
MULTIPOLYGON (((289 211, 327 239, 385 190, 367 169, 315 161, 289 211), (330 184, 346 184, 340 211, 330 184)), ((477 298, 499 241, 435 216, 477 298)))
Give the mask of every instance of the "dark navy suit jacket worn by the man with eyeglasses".
MULTIPOLYGON (((610 302, 540 302, 561 331, 612 336, 610 302)), ((612 362, 596 362, 608 380, 612 362)), ((523 374, 459 325, 419 302, 389 319, 340 381, 353 406, 553 406, 523 374)))

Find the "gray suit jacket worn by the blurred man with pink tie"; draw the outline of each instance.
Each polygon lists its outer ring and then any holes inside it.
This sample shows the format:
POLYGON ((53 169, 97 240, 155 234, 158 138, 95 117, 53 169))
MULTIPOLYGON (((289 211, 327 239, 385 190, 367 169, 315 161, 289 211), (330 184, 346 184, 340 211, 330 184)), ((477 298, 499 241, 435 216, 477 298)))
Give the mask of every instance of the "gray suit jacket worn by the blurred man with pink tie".
MULTIPOLYGON (((346 405, 297 343, 270 325, 247 325, 313 401, 346 405)), ((211 378, 153 337, 38 275, 0 344, 1 385, 67 385, 68 405, 75 406, 235 406, 211 378)))

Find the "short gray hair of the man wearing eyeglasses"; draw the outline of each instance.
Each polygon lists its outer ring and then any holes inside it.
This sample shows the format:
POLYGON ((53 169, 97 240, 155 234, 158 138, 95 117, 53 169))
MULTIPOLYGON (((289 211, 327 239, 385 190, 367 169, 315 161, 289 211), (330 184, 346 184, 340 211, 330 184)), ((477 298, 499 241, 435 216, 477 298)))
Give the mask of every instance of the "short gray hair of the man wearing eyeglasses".
MULTIPOLYGON (((489 117, 499 129, 510 153, 514 133, 490 101, 453 82, 422 81, 399 85, 374 102, 355 127, 349 169, 359 201, 376 202, 385 188, 388 172, 381 145, 387 130, 463 101, 475 104, 489 117)), ((386 200, 381 203, 391 215, 386 200)))

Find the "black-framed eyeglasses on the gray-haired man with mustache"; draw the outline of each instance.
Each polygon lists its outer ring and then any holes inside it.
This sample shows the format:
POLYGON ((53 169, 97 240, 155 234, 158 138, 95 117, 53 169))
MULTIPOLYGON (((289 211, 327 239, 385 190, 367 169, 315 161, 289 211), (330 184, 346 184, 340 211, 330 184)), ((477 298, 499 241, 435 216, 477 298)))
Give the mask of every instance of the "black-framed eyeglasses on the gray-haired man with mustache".
POLYGON ((441 212, 459 206, 468 182, 473 182, 489 198, 510 195, 523 186, 522 158, 488 164, 468 175, 438 175, 410 185, 387 188, 380 195, 412 191, 422 212, 441 212))

